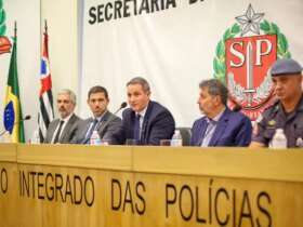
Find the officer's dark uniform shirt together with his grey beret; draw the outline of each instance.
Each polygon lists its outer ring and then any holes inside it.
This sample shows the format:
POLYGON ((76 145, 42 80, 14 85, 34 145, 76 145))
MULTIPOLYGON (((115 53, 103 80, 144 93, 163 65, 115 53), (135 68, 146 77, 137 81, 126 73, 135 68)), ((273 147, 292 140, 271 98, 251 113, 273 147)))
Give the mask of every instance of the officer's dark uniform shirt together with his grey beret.
MULTIPOLYGON (((272 69, 272 77, 282 75, 300 75, 301 65, 294 59, 277 59, 272 69)), ((281 103, 278 101, 266 109, 262 119, 258 122, 253 132, 252 141, 264 144, 268 147, 276 129, 284 129, 287 137, 287 147, 302 146, 303 139, 303 93, 300 102, 292 112, 285 112, 281 103), (299 143, 300 142, 300 143, 299 143)))

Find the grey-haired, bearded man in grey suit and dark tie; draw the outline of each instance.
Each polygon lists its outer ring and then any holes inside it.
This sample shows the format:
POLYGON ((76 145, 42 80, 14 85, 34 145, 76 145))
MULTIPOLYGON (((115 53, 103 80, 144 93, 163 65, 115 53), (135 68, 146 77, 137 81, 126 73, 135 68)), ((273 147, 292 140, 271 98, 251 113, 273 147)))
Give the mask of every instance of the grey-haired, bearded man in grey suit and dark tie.
POLYGON ((50 123, 44 143, 69 144, 74 139, 81 122, 81 119, 74 114, 76 95, 73 91, 64 89, 58 92, 56 102, 60 118, 50 123))

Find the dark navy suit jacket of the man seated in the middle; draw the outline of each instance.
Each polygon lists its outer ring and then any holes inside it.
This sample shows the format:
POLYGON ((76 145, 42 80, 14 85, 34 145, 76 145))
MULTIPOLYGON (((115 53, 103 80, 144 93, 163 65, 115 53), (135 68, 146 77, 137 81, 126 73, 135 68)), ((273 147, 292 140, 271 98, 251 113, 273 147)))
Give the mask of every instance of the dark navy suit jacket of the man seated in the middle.
MULTIPOLYGON (((127 138, 133 138, 135 112, 128 108, 122 114, 122 124, 114 134, 117 144, 124 144, 127 138)), ((170 139, 174 133, 174 119, 171 112, 160 104, 150 101, 144 116, 141 145, 159 145, 160 139, 170 139)))

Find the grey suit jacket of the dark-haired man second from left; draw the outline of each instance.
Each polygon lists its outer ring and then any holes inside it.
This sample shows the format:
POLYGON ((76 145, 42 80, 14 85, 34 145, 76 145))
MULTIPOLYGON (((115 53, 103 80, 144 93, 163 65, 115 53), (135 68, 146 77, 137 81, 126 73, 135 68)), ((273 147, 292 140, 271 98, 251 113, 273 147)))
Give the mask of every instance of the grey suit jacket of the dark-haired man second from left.
MULTIPOLYGON (((76 135, 76 139, 73 143, 75 144, 88 143, 88 141, 85 139, 85 135, 92 122, 93 122, 93 118, 89 118, 81 123, 81 125, 79 126, 79 131, 76 135)), ((106 114, 101 119, 101 122, 98 122, 96 126, 100 138, 111 139, 113 133, 118 130, 120 124, 121 124, 120 118, 118 118, 117 116, 113 115, 109 111, 106 111, 106 114)))

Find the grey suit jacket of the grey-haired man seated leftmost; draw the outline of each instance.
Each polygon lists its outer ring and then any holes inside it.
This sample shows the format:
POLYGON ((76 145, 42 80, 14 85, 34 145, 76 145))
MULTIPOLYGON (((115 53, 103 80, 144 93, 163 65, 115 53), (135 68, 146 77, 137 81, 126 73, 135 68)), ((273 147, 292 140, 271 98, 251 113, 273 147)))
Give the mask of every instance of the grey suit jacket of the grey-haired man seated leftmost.
MULTIPOLYGON (((78 116, 73 114, 73 116, 69 118, 67 124, 65 125, 65 128, 64 128, 64 130, 61 134, 61 137, 58 138, 58 143, 70 144, 71 141, 74 139, 75 135, 76 135, 79 123, 82 120, 78 116)), ((55 132, 58 123, 60 123, 60 119, 55 119, 50 123, 50 125, 48 128, 48 131, 47 131, 45 139, 44 139, 43 143, 51 144, 54 132, 55 132)))

